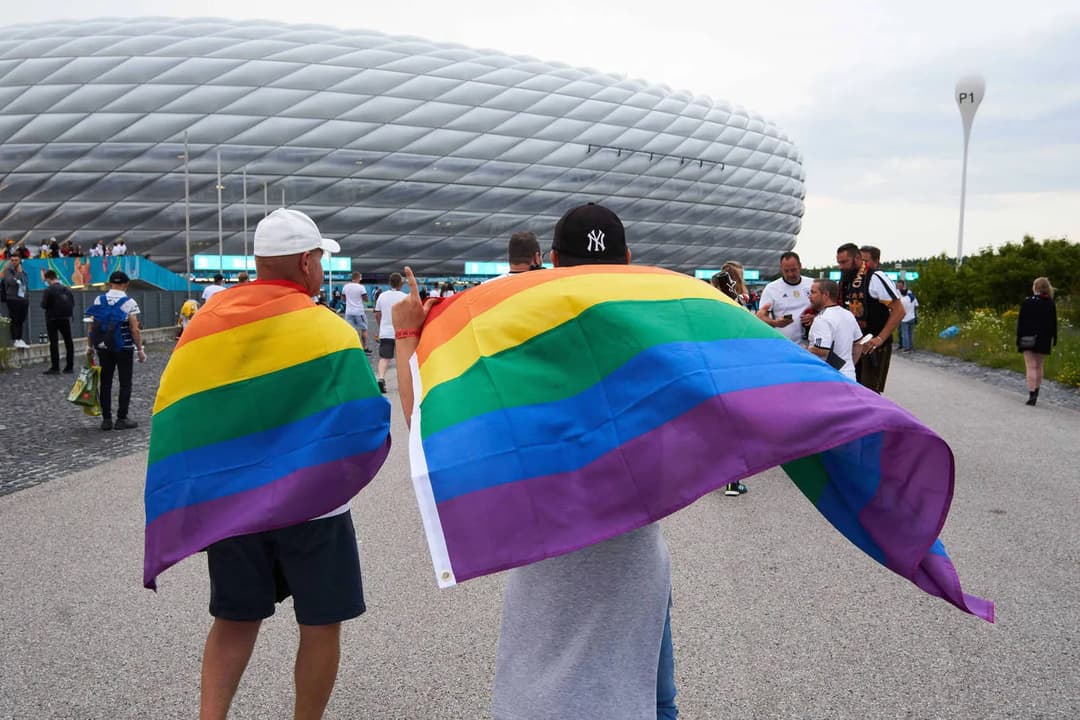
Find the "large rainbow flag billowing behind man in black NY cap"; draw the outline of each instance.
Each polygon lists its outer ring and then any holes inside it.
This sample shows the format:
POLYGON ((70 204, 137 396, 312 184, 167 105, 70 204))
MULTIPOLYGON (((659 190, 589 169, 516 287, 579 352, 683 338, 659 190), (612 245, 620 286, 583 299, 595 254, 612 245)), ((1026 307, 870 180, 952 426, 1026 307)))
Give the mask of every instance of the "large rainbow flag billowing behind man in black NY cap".
POLYGON ((783 465, 867 555, 993 622, 937 540, 948 445, 706 283, 637 266, 486 283, 435 307, 411 364, 413 480, 441 586, 783 465))

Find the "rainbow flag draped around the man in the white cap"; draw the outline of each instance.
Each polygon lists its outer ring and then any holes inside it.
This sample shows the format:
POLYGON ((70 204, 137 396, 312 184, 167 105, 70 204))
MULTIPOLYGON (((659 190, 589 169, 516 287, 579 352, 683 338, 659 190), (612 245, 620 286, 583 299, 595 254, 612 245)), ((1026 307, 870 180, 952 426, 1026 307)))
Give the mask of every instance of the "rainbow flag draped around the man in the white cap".
POLYGON ((225 538, 333 511, 390 451, 390 404, 356 331, 299 285, 218 293, 161 378, 143 583, 225 538))

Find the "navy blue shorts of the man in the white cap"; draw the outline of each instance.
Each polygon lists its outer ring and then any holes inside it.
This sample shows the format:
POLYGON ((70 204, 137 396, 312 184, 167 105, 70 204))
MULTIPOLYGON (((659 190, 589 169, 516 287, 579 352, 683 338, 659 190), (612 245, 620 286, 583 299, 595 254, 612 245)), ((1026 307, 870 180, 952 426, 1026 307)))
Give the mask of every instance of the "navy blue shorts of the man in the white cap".
POLYGON ((206 548, 210 614, 254 622, 293 596, 296 622, 330 625, 364 612, 352 514, 238 535, 206 548))

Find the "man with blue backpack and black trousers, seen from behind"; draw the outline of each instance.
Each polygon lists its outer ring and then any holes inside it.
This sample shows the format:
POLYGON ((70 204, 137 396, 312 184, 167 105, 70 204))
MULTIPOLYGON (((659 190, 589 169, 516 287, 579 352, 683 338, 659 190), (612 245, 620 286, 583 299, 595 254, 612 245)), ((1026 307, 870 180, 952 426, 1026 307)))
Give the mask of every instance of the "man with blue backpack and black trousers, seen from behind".
POLYGON ((135 355, 138 362, 146 362, 143 350, 143 334, 138 326, 138 303, 127 297, 131 279, 117 271, 109 275, 109 291, 94 299, 86 309, 86 317, 93 325, 86 334, 86 355, 97 352, 102 366, 102 430, 126 430, 138 425, 127 419, 127 407, 132 399, 132 373, 135 355), (117 420, 112 421, 112 376, 120 376, 120 400, 117 405, 117 420))

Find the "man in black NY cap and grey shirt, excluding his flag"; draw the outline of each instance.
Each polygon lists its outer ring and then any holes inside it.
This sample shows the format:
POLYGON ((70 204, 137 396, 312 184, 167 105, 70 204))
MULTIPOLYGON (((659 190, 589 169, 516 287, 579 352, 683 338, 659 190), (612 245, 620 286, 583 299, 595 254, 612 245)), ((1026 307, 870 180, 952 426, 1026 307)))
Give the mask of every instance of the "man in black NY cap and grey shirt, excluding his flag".
MULTIPOLYGON (((555 226, 556 268, 630 259, 622 222, 602 205, 575 207, 555 226)), ((429 309, 416 293, 394 305, 394 327, 405 334, 396 350, 406 418, 413 410, 408 359, 419 332, 413 334, 429 309)), ((670 600, 671 565, 658 522, 511 570, 491 717, 674 720, 670 600)))

